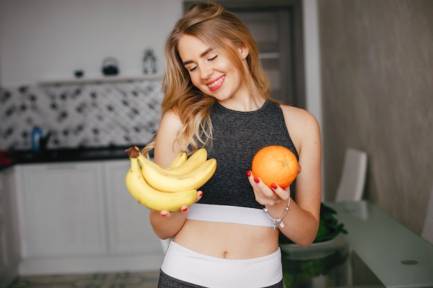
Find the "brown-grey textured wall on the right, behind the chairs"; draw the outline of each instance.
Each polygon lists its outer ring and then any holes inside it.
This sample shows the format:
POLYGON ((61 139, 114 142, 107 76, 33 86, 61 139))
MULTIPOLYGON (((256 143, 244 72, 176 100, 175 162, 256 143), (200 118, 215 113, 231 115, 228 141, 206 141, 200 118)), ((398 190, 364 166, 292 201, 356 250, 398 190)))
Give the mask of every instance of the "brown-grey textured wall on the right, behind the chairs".
POLYGON ((344 149, 365 150, 365 198, 421 233, 433 184, 433 1, 320 0, 319 23, 326 191, 344 149))

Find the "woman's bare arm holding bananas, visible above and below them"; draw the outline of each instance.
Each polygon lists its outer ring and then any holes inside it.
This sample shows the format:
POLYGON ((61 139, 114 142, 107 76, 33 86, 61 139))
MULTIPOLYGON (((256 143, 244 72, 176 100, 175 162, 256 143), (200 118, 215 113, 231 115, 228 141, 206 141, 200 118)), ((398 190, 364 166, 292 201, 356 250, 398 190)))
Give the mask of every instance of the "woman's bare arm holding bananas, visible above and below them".
MULTIPOLYGON (((168 167, 174 157, 181 153, 182 147, 176 142, 176 136, 181 126, 181 120, 174 113, 167 112, 163 115, 155 139, 154 162, 156 164, 168 167)), ((156 236, 167 239, 175 236, 181 230, 186 215, 187 207, 185 206, 177 212, 151 210, 149 219, 156 236)))

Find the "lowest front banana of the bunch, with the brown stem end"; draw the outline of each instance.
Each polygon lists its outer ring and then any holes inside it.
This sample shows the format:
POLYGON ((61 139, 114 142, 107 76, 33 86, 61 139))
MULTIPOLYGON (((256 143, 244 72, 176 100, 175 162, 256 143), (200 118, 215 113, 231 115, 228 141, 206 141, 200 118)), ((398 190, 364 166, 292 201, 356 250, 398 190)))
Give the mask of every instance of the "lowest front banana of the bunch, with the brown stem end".
POLYGON ((191 206, 196 201, 196 189, 179 191, 178 193, 165 193, 152 188, 142 177, 138 158, 131 157, 130 154, 129 159, 131 160, 131 168, 127 173, 125 182, 129 193, 140 204, 157 211, 165 209, 173 212, 179 211, 183 205, 191 206))

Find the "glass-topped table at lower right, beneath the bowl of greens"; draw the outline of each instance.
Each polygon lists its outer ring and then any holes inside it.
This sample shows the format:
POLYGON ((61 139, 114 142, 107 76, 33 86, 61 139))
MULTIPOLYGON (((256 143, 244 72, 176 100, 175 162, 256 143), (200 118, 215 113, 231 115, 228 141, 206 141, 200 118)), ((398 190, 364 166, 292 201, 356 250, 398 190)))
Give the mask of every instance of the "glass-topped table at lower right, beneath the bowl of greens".
POLYGON ((281 244, 284 286, 433 287, 433 245, 366 201, 326 202, 347 235, 281 244))

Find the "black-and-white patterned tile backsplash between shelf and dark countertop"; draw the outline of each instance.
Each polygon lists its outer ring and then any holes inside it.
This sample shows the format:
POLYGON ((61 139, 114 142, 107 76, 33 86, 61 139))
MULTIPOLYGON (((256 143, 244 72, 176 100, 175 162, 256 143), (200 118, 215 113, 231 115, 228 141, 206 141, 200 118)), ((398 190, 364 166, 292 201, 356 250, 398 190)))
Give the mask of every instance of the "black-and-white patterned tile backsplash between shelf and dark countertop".
POLYGON ((48 148, 147 144, 163 99, 160 79, 0 90, 0 148, 30 148, 38 124, 48 148))

